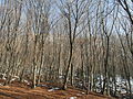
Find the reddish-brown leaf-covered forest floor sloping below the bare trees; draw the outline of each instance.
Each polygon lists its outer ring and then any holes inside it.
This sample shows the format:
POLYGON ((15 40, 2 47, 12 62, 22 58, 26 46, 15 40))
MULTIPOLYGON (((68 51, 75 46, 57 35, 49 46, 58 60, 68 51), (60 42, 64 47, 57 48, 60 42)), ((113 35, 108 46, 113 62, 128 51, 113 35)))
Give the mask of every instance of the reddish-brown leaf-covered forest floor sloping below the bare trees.
MULTIPOLYGON (((1 80, 0 80, 1 81, 1 80)), ((100 94, 78 90, 69 87, 66 90, 61 90, 55 85, 41 84, 34 89, 31 89, 27 84, 13 81, 9 86, 0 86, 0 99, 114 99, 100 94)))

